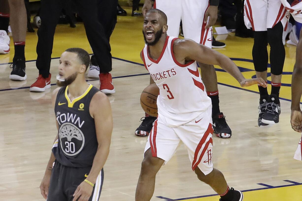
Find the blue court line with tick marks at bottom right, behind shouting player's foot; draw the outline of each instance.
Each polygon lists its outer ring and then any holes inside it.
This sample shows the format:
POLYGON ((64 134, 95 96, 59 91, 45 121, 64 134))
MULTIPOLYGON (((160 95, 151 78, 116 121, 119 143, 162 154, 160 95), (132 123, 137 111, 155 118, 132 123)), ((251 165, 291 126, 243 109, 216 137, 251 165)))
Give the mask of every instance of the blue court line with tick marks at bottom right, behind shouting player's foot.
MULTIPOLYGON (((258 183, 263 186, 267 186, 264 188, 256 188, 256 189, 249 189, 249 190, 241 190, 241 192, 249 192, 249 191, 256 191, 256 190, 265 190, 265 189, 273 189, 273 188, 282 188, 282 187, 288 187, 288 186, 297 186, 297 185, 302 185, 302 183, 290 181, 290 180, 284 180, 288 181, 293 184, 288 184, 288 185, 281 185, 281 186, 270 186, 264 183, 258 183)), ((165 199, 163 201, 178 201, 178 200, 186 200, 186 199, 196 199, 196 198, 203 198, 203 197, 211 197, 211 196, 218 196, 218 194, 211 194, 211 195, 204 195, 204 196, 194 196, 194 197, 186 197, 186 198, 178 198, 178 199, 171 199, 171 198, 166 198, 163 196, 157 196, 157 198, 165 199)))

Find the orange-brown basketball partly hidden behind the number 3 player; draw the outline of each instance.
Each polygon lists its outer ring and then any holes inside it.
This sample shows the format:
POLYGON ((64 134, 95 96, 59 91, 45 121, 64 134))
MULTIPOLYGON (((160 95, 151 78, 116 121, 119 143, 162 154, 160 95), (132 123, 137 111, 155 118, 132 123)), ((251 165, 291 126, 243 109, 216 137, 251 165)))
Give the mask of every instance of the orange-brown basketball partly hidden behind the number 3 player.
POLYGON ((159 94, 159 88, 156 84, 147 86, 140 95, 140 105, 143 110, 150 116, 157 116, 156 100, 159 94))

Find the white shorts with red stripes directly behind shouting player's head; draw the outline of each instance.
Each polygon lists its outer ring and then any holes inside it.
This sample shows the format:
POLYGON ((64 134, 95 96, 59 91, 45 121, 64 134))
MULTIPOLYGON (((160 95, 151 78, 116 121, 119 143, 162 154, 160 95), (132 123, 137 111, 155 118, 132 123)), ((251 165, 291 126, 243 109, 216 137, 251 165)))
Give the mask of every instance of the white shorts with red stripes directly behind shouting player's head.
POLYGON ((168 18, 168 36, 178 37, 182 20, 184 37, 212 48, 212 27, 205 29, 205 12, 209 0, 155 0, 154 8, 168 18))

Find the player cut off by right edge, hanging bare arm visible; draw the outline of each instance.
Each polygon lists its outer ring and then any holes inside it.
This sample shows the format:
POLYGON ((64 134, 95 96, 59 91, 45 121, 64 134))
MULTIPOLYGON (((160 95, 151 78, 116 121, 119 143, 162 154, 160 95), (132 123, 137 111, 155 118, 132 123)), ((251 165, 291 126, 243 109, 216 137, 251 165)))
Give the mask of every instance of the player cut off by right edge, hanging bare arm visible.
MULTIPOLYGON (((297 132, 302 132, 302 112, 300 109, 300 99, 302 95, 302 29, 300 40, 296 50, 296 63, 291 80, 291 128, 297 132)), ((301 137, 302 139, 302 137, 301 137)), ((294 155, 294 159, 302 160, 301 139, 294 155)))

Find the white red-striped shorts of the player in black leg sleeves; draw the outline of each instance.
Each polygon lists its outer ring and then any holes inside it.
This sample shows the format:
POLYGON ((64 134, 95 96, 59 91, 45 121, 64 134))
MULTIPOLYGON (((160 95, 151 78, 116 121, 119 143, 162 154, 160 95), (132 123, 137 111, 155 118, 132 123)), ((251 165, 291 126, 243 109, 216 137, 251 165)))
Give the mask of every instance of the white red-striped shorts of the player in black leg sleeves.
POLYGON ((244 23, 253 31, 267 31, 281 21, 286 30, 289 12, 280 0, 245 0, 244 23))

